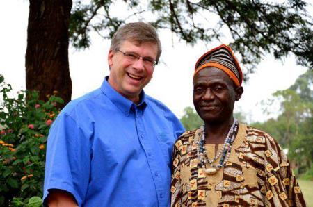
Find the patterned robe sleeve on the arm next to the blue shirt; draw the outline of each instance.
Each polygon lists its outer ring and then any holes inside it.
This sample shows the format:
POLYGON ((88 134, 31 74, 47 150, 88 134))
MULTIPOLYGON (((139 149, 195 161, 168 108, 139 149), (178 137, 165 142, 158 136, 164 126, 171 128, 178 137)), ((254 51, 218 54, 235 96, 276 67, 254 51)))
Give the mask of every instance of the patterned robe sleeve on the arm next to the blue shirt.
POLYGON ((170 206, 182 206, 182 186, 180 178, 180 160, 179 149, 176 144, 173 147, 172 156, 172 182, 170 185, 171 202, 170 206))

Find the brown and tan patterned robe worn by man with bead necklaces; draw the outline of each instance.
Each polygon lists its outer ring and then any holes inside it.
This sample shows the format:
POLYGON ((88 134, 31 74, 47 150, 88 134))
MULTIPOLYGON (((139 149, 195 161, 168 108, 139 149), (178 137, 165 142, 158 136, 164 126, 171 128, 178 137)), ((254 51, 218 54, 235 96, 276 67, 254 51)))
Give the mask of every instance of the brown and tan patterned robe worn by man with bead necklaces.
MULTIPOLYGON (((171 206, 305 206, 289 160, 270 135, 239 124, 230 158, 214 175, 200 166, 200 135, 186 131, 175 142, 171 206)), ((205 147, 214 158, 215 145, 205 147)))

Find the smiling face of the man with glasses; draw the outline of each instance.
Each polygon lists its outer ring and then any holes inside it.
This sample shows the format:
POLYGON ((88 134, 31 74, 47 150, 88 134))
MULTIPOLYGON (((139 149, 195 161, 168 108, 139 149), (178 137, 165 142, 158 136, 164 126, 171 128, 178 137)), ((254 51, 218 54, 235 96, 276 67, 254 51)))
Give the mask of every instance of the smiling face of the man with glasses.
POLYGON ((122 96, 137 103, 141 90, 150 82, 154 72, 147 61, 125 56, 124 53, 133 53, 151 60, 157 59, 158 47, 152 42, 135 44, 125 40, 120 51, 109 51, 108 62, 111 68, 109 83, 122 96))

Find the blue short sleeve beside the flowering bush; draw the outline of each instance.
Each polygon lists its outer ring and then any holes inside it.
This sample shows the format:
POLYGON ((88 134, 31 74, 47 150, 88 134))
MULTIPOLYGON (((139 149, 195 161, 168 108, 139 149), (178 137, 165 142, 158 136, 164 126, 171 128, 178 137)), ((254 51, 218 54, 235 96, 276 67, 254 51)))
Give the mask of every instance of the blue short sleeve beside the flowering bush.
POLYGON ((70 192, 81 206, 90 177, 90 135, 70 115, 58 115, 47 142, 44 201, 50 189, 59 189, 70 192))

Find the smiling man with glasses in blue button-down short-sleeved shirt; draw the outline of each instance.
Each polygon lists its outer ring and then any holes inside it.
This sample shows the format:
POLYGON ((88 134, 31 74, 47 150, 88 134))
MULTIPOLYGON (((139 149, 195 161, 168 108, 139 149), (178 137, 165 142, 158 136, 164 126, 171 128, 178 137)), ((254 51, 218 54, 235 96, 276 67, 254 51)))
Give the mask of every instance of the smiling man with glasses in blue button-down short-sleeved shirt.
POLYGON ((160 55, 150 24, 125 24, 113 35, 110 76, 51 126, 45 204, 169 206, 172 144, 184 128, 143 91, 160 55))

